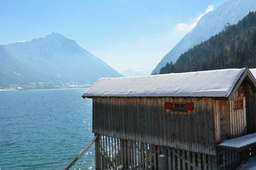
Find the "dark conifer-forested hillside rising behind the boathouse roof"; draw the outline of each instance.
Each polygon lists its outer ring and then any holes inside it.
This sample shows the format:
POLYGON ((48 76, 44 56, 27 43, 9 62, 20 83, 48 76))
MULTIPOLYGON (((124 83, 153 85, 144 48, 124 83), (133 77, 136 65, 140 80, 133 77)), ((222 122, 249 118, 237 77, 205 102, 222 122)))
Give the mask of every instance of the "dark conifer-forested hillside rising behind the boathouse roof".
POLYGON ((190 48, 176 63, 167 63, 159 74, 189 71, 256 68, 256 12, 236 25, 227 23, 219 34, 190 48))

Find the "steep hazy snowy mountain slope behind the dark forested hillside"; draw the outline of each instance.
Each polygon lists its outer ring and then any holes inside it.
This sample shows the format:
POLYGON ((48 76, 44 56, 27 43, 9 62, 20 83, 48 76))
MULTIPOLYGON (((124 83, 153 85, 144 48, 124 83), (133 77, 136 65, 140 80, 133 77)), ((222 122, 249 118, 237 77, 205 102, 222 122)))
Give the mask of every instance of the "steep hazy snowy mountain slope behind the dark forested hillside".
POLYGON ((236 24, 249 11, 256 10, 255 0, 229 0, 217 9, 206 13, 196 24, 193 30, 186 34, 178 44, 157 64, 153 73, 159 73, 167 62, 176 62, 180 55, 196 44, 209 39, 223 30, 226 23, 236 24))

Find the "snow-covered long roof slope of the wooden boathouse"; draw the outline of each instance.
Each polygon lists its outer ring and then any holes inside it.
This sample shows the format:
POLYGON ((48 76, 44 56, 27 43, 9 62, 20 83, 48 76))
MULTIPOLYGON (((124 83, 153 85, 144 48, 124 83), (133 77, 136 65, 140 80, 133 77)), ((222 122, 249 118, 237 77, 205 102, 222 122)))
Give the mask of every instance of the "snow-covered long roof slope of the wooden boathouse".
POLYGON ((228 97, 245 70, 100 78, 83 97, 228 97))

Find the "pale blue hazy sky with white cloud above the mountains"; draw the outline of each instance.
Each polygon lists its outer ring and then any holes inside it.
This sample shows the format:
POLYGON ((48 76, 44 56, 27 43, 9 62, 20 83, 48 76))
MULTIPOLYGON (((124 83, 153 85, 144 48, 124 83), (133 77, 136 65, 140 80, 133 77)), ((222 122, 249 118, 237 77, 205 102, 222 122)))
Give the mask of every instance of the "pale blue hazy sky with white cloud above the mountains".
POLYGON ((151 71, 205 12, 226 1, 0 0, 0 44, 56 32, 117 71, 151 71))

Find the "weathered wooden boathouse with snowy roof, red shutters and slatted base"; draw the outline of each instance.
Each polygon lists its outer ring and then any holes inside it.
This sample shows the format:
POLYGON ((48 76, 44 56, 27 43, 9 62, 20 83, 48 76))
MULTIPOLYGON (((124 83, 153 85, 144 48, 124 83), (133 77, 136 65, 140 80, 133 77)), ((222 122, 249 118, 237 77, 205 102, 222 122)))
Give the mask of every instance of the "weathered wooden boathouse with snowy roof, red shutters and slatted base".
POLYGON ((83 94, 96 169, 235 169, 254 143, 221 143, 256 132, 255 92, 248 68, 100 78, 83 94))

